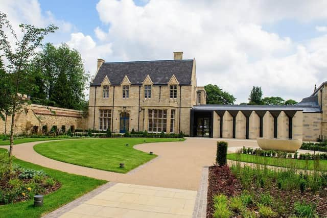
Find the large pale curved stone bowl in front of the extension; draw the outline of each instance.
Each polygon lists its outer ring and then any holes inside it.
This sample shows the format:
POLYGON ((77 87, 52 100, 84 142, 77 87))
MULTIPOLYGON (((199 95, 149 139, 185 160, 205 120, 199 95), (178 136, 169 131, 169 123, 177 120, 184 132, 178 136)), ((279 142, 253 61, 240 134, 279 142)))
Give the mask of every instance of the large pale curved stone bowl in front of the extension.
POLYGON ((263 150, 295 152, 301 148, 302 139, 256 138, 256 143, 263 150))

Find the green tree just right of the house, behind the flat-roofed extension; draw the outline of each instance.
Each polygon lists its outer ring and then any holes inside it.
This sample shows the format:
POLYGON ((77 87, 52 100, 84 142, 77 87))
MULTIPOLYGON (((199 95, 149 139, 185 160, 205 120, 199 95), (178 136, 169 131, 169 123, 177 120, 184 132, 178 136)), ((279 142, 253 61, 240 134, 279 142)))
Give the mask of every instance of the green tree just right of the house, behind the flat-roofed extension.
POLYGON ((233 105, 236 98, 219 86, 208 84, 204 86, 206 91, 206 104, 208 105, 233 105))

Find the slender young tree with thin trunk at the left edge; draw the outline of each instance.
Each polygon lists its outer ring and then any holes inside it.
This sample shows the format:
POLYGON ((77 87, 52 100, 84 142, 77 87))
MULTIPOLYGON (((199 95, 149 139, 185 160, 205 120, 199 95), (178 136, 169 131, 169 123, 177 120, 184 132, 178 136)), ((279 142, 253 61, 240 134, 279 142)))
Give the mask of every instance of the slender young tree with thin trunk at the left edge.
POLYGON ((5 111, 6 114, 11 115, 9 156, 12 155, 14 143, 15 113, 20 111, 22 105, 26 103, 26 99, 17 93, 20 90, 33 88, 29 84, 31 78, 30 70, 28 70, 29 59, 34 56, 34 51, 41 45, 44 36, 58 29, 53 25, 46 28, 36 28, 32 25, 21 24, 19 27, 23 34, 21 39, 18 39, 6 14, 0 12, 0 50, 8 60, 8 65, 5 68, 7 75, 4 78, 7 83, 6 95, 8 99, 7 102, 0 105, 0 111, 5 111), (14 47, 11 46, 8 40, 7 31, 15 40, 14 47))

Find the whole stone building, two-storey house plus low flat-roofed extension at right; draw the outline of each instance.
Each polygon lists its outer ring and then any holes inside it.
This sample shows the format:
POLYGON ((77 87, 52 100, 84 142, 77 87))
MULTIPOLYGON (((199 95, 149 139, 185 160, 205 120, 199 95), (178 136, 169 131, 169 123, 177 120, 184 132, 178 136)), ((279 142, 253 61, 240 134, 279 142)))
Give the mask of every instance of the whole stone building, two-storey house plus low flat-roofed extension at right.
POLYGON ((293 106, 206 105, 195 59, 106 63, 90 84, 88 128, 190 136, 317 140, 327 135, 326 83, 293 106))

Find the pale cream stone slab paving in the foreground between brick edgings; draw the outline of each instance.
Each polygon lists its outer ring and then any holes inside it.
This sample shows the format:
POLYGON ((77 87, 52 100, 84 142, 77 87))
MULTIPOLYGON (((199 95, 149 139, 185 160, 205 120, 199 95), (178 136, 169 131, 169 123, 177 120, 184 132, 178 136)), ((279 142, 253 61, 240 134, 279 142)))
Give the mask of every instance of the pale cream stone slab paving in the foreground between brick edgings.
MULTIPOLYGON (((192 217, 197 191, 116 183, 46 217, 192 217)), ((82 197, 84 198, 84 197, 82 197)))

